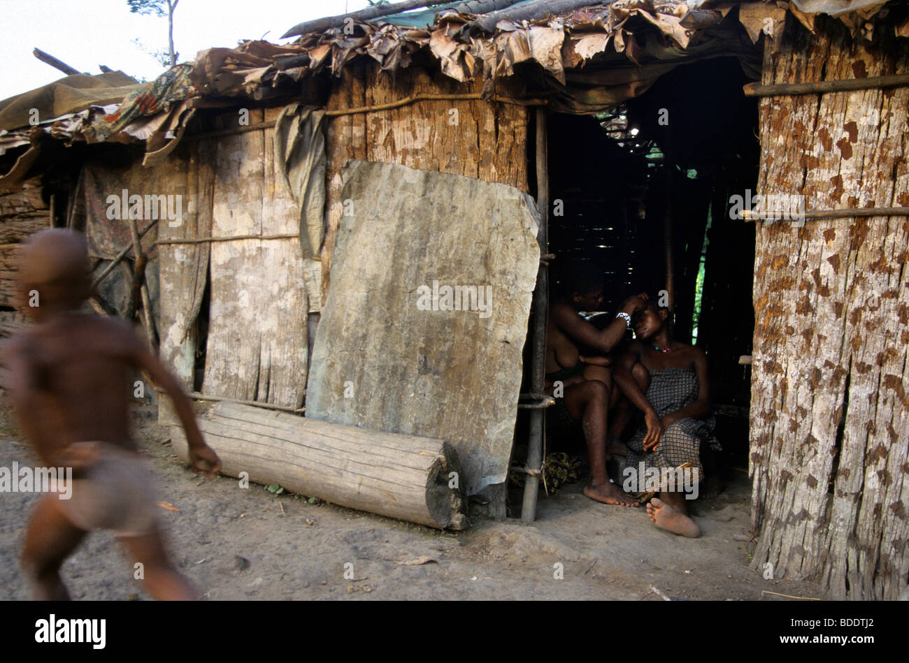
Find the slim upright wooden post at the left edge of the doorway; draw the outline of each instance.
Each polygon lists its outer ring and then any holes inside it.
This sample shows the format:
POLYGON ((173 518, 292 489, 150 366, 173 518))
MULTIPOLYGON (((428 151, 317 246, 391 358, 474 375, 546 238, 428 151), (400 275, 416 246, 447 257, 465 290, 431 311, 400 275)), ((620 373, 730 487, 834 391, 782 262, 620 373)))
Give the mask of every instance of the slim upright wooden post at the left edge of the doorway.
MULTIPOLYGON (((540 230, 536 235, 540 253, 549 252, 547 224, 549 219, 549 168, 546 146, 546 109, 536 109, 536 207, 540 212, 540 230)), ((546 371, 546 318, 549 314, 549 273, 541 262, 536 274, 534 290, 533 364, 531 365, 531 391, 543 393, 546 371)), ((530 440, 527 449, 527 476, 524 481, 524 503, 521 520, 533 522, 536 518, 536 494, 540 486, 543 466, 543 436, 545 434, 544 409, 530 411, 530 440)))

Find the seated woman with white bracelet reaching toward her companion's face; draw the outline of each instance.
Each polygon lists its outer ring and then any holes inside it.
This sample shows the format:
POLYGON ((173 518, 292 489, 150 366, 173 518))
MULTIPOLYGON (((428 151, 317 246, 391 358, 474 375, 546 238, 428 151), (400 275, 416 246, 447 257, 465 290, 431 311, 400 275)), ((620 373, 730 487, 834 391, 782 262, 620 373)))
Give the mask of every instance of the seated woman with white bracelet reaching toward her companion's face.
MULTIPOLYGON (((560 283, 549 311, 546 334, 546 393, 554 395, 554 414, 564 424, 581 423, 590 460, 590 482, 584 495, 605 504, 636 507, 637 502, 610 483, 606 461, 606 413, 612 395, 611 360, 583 357, 579 346, 607 355, 623 340, 634 312, 644 307, 647 295, 629 297, 614 322, 600 331, 578 312, 603 305, 603 272, 581 263, 560 283), (561 382, 561 384, 555 384, 561 382)), ((616 394, 617 395, 617 394, 616 394)))

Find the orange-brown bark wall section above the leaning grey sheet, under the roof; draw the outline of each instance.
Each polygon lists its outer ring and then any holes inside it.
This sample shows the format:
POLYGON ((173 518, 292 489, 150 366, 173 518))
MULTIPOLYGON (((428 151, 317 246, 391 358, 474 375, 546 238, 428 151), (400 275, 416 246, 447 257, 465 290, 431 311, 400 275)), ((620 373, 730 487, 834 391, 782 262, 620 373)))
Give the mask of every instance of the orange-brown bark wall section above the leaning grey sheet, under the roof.
MULTIPOLYGON (((520 96, 512 79, 495 83, 495 94, 520 96)), ((380 72, 378 64, 346 66, 327 110, 387 104, 412 94, 468 94, 483 82, 460 84, 417 66, 380 72)), ((400 108, 328 119, 328 184, 322 245, 322 301, 328 296, 332 256, 343 211, 341 169, 348 160, 401 163, 411 168, 477 177, 527 189, 528 109, 485 101, 420 101, 400 108), (452 110, 456 111, 456 114, 452 110), (456 121, 456 124, 454 122, 456 121)))

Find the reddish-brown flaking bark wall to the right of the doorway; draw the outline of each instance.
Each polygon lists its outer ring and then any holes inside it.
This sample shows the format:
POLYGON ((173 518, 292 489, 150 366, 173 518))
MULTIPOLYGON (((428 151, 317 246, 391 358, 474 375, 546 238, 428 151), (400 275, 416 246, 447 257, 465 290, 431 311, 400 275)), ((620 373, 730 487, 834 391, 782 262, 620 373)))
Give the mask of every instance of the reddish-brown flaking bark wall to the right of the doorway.
MULTIPOLYGON (((816 35, 787 21, 764 84, 909 72, 880 26, 872 45, 824 17, 816 35)), ((758 193, 909 204, 907 107, 905 87, 763 99, 758 193)), ((752 568, 834 599, 896 599, 909 573, 907 247, 904 216, 756 228, 752 568)))

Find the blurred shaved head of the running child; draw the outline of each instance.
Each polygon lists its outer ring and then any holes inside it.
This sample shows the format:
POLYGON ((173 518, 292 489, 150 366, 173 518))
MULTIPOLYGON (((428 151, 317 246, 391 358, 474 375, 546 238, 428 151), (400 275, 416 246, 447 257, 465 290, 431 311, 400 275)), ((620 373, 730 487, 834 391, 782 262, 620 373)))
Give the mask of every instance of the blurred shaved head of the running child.
POLYGON ((36 315, 42 306, 77 309, 89 295, 88 249, 82 233, 54 228, 25 241, 19 261, 20 296, 29 302, 37 291, 38 305, 25 307, 36 315))

